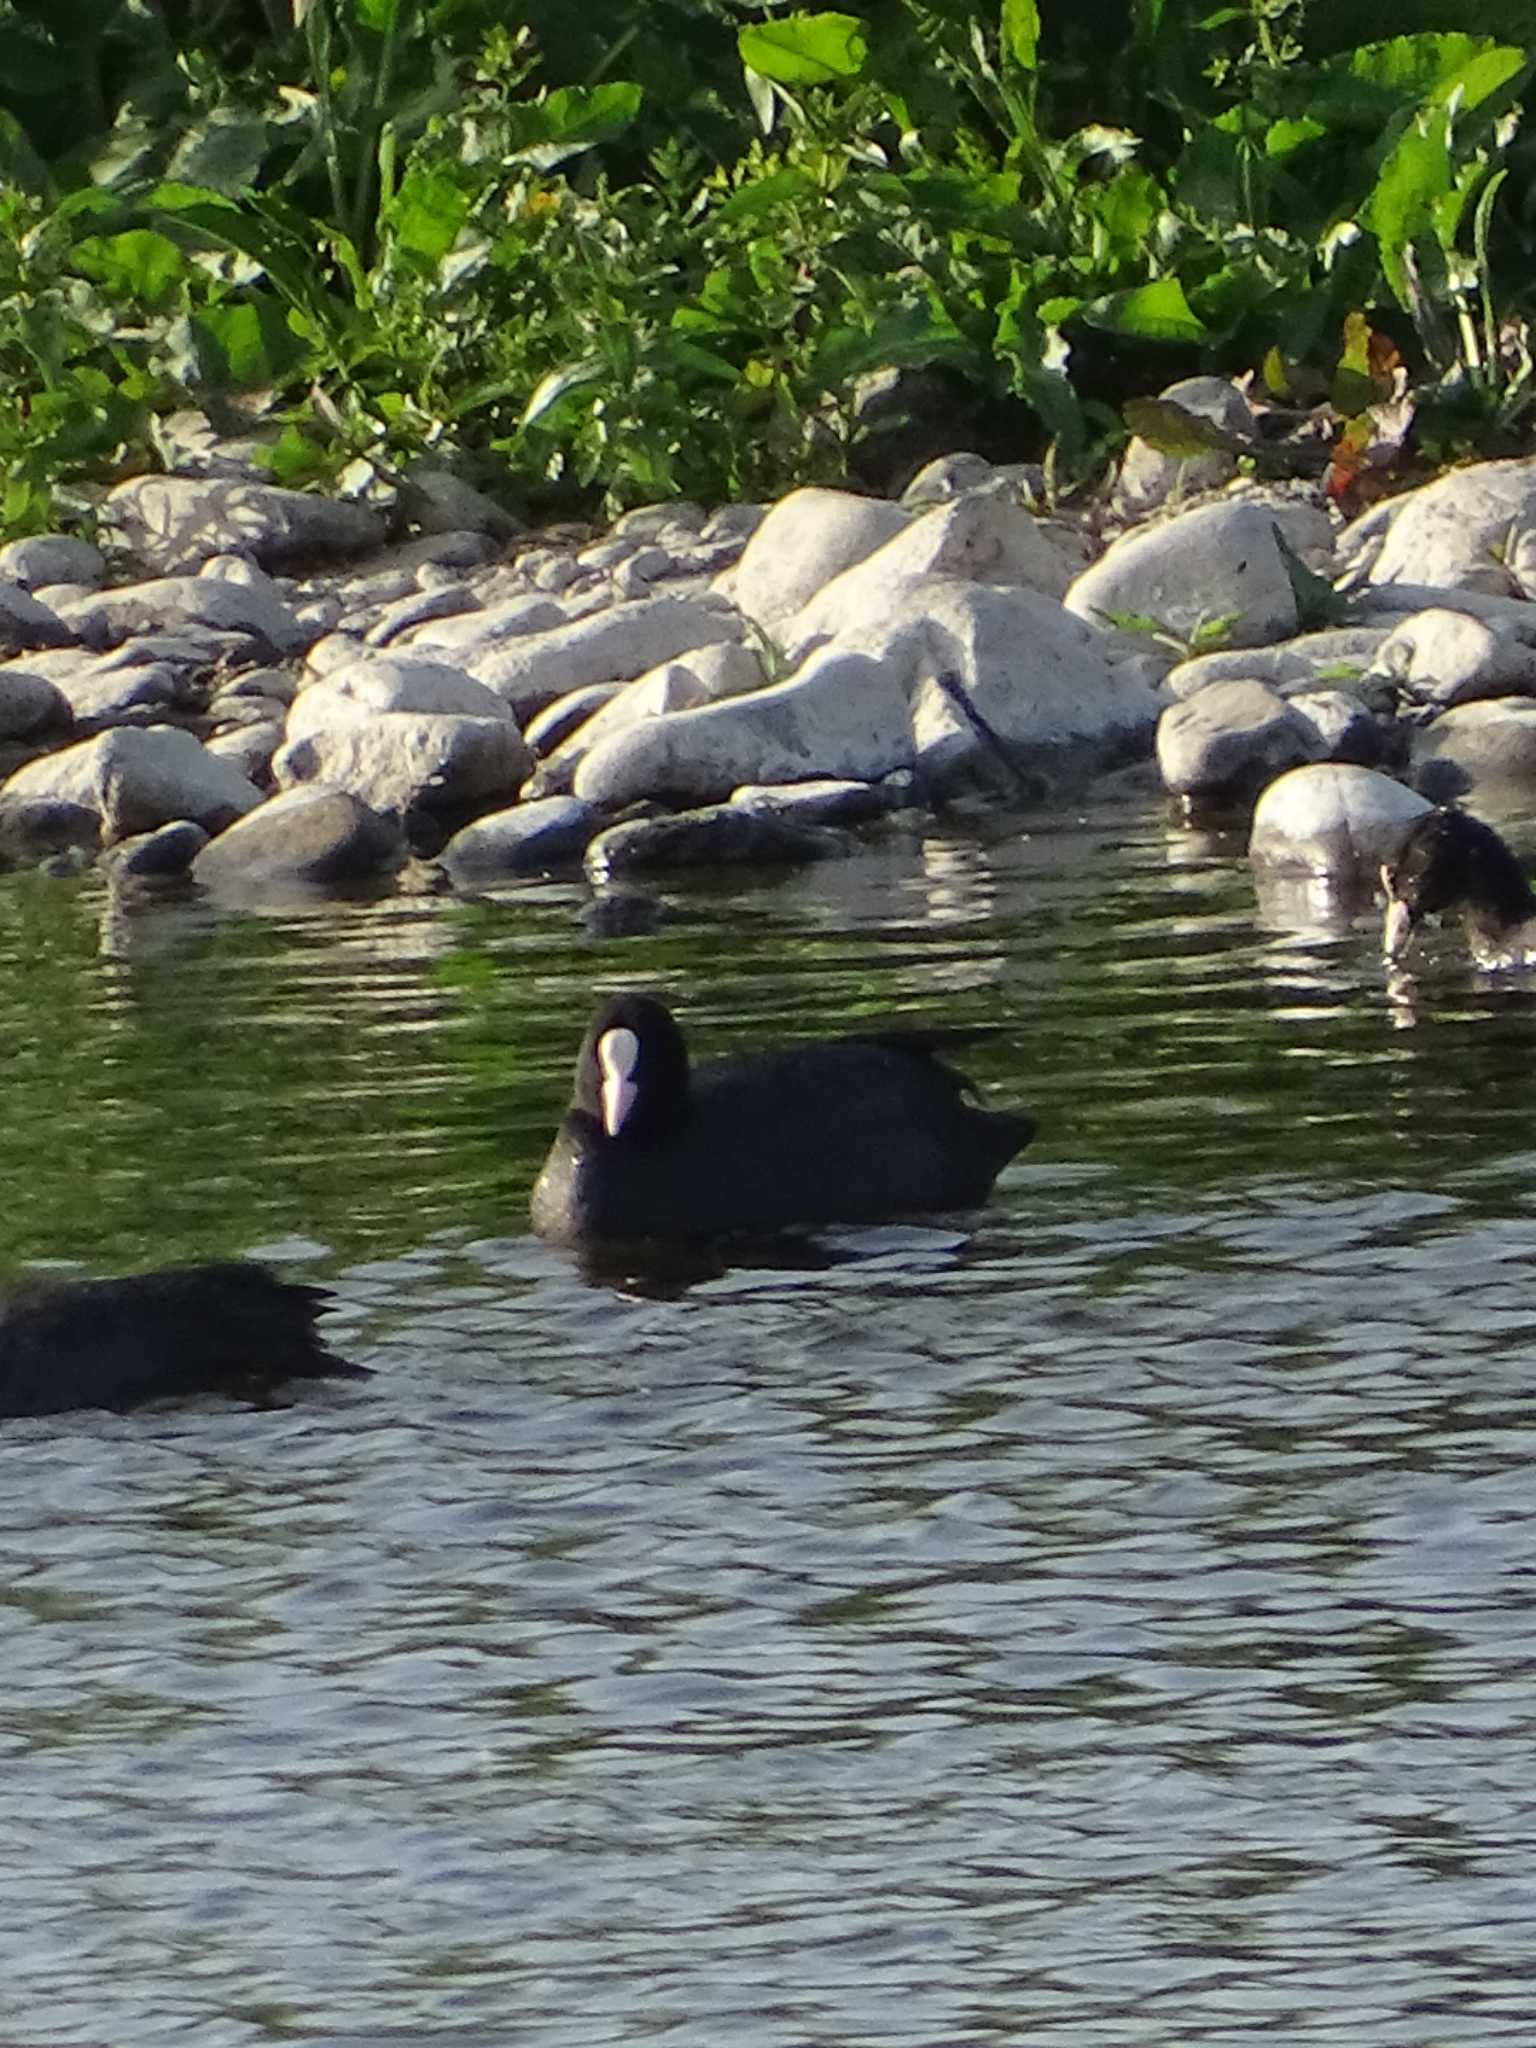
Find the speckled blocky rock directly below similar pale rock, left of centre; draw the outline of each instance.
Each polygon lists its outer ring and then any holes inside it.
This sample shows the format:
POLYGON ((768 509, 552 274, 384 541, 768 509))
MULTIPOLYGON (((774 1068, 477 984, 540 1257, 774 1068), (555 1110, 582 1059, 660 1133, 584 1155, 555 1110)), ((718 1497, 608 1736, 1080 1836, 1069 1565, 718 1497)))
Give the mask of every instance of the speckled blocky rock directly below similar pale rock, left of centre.
POLYGON ((330 782, 375 811, 465 811, 510 803, 528 750, 506 719, 389 711, 289 739, 272 762, 279 788, 330 782))

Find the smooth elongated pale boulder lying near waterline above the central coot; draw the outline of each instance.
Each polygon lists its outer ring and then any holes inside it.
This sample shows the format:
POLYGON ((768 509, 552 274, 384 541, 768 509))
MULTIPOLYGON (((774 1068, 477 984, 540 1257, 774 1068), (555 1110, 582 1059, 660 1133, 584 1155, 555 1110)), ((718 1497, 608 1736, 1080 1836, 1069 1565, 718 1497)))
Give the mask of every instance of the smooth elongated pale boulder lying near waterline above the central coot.
POLYGON ((786 682, 641 719, 590 748, 573 788, 588 803, 711 803, 739 782, 874 780, 913 760, 907 696, 889 664, 823 649, 786 682))

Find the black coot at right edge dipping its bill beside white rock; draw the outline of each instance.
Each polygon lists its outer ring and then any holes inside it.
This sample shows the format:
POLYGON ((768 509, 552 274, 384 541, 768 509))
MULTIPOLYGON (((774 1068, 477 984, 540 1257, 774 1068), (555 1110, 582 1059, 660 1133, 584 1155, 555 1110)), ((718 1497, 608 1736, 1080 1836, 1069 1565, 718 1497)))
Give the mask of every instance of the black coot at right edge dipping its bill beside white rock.
POLYGON ((1423 918, 1454 909, 1479 967, 1536 967, 1536 895, 1526 870, 1499 834, 1466 811, 1425 811, 1380 879, 1389 961, 1407 950, 1423 918))

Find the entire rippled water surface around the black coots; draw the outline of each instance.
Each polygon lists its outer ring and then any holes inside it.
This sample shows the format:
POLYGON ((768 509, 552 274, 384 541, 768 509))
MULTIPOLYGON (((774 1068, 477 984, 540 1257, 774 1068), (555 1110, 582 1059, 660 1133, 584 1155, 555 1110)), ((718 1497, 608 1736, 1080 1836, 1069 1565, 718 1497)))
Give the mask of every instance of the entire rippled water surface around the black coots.
POLYGON ((0 1434, 0 2036, 1532 2040, 1536 1010, 1128 805, 670 895, 0 881, 6 1270, 379 1368, 0 1434), (678 1298, 522 1235, 594 987, 997 1026, 993 1208, 678 1298))

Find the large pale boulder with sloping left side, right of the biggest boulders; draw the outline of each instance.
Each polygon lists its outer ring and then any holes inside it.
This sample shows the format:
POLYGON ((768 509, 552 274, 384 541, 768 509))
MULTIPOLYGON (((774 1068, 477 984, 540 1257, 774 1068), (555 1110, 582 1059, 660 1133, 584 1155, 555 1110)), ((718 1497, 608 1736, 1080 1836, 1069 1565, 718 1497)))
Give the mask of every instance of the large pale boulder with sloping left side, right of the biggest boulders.
POLYGON ((1198 506, 1116 541, 1071 586, 1067 610, 1098 625, 1155 618, 1180 639, 1227 618, 1227 639, 1239 647, 1286 639, 1298 621, 1276 526, 1309 565, 1327 555, 1327 514, 1315 506, 1198 506))

